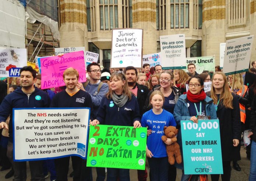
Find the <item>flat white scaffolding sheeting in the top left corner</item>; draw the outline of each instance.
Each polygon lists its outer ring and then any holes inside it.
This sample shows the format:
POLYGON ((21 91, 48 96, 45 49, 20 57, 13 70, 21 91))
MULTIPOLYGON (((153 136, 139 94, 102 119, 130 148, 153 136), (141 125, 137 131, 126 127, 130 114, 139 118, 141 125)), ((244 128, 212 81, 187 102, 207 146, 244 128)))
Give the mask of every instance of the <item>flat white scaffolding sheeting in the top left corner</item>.
POLYGON ((0 47, 26 48, 25 8, 18 0, 0 0, 0 47))

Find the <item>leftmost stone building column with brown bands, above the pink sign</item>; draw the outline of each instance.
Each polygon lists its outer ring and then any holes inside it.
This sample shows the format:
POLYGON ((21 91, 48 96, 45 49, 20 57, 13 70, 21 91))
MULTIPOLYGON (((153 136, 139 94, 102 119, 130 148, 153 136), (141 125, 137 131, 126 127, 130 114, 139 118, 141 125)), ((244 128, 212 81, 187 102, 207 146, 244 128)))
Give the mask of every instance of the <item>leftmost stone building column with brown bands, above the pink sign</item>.
POLYGON ((86 0, 60 0, 60 47, 88 50, 86 0))

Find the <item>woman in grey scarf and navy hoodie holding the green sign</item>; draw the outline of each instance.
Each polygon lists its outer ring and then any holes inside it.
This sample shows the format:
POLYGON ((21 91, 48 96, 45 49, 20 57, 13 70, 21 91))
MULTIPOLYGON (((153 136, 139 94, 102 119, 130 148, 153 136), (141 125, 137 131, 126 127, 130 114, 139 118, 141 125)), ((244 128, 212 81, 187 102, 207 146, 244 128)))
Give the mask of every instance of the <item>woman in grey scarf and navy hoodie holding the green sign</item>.
MULTIPOLYGON (((128 88, 122 71, 113 72, 110 77, 110 90, 102 98, 96 119, 90 125, 116 125, 141 127, 141 116, 136 97, 128 88)), ((107 180, 130 180, 129 169, 107 168, 107 180)))

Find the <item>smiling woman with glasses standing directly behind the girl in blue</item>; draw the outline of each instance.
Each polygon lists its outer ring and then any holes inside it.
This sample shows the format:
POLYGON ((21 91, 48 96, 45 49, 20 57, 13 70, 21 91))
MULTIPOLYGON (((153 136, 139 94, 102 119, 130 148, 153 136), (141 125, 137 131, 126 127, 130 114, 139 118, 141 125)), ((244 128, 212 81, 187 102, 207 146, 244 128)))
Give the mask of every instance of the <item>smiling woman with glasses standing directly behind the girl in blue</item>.
MULTIPOLYGON (((160 91, 164 95, 163 109, 173 114, 175 104, 180 95, 179 89, 173 86, 173 82, 174 82, 173 73, 169 70, 164 70, 160 74, 160 78, 159 78, 160 85, 153 88, 147 95, 145 106, 143 107, 143 113, 152 109, 152 106, 149 105, 150 95, 152 94, 152 92, 160 91)), ((151 130, 149 130, 149 132, 150 131, 151 130)), ((169 165, 168 180, 169 181, 176 180, 176 168, 173 165, 169 165)))

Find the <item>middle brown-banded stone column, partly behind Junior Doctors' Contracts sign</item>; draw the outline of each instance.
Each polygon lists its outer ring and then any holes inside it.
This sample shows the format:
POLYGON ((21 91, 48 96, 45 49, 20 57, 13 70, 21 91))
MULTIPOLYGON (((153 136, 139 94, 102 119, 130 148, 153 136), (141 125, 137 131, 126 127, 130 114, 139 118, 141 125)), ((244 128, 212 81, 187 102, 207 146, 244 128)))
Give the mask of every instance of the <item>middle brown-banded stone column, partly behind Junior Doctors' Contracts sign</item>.
POLYGON ((156 53, 156 1, 132 1, 132 28, 143 29, 143 55, 156 53))

